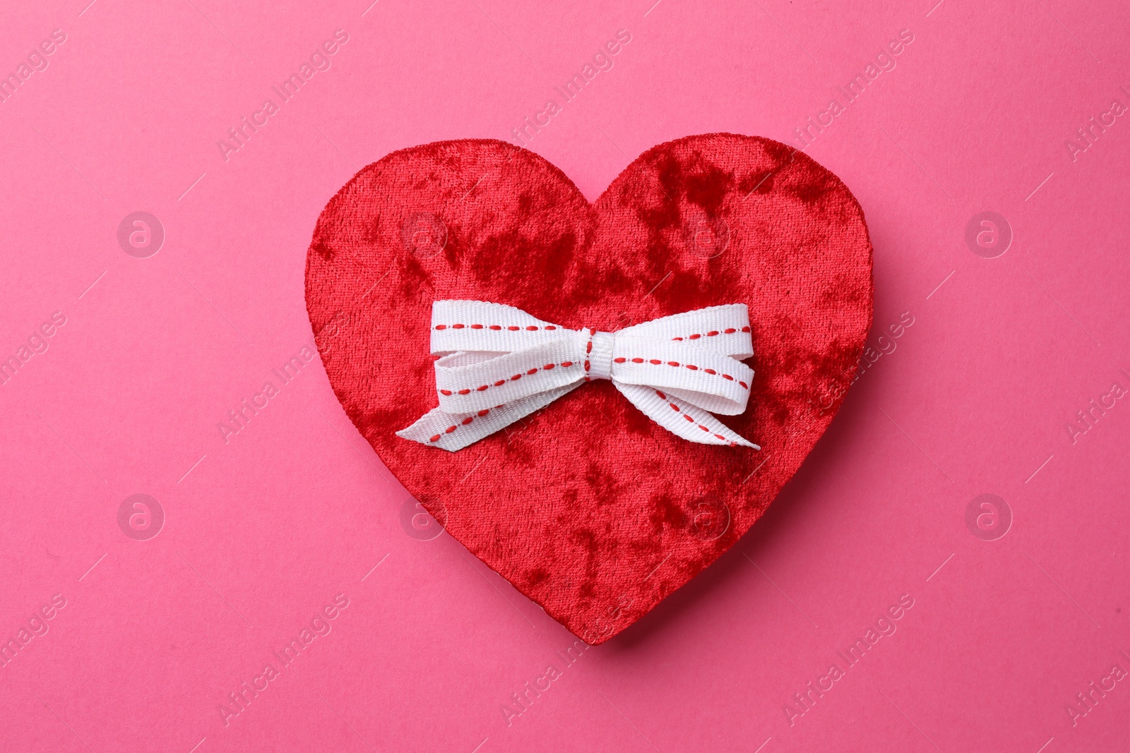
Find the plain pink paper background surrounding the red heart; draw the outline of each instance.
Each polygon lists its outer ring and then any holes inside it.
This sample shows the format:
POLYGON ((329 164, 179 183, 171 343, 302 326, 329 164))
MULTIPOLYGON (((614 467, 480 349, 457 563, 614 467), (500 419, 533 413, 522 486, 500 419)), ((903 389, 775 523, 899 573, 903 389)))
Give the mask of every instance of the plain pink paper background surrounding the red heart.
POLYGON ((1130 119, 1085 151, 1077 133, 1130 105, 1125 3, 370 1, 0 10, 0 73, 66 34, 0 104, 0 356, 66 316, 0 386, 0 638, 21 646, 0 748, 1125 748, 1130 682, 1104 677, 1130 671, 1130 401, 1068 430, 1130 387, 1130 119), (217 140, 339 28, 331 68, 225 160, 217 140), (394 149, 508 138, 620 28, 530 143, 590 199, 669 139, 792 141, 913 34, 807 147, 867 212, 889 352, 733 550, 570 665, 563 628, 402 524, 316 359, 226 444, 217 423, 311 343, 304 255, 338 187, 394 149), (139 210, 166 236, 147 259, 116 238, 139 210), (1015 236, 996 259, 965 240, 981 211, 1015 236), (119 526, 134 493, 165 514, 147 541, 119 526), (994 541, 966 526, 982 493, 1014 516, 994 541), (337 594, 330 632, 225 724, 337 594), (904 594, 897 631, 799 715, 904 594))

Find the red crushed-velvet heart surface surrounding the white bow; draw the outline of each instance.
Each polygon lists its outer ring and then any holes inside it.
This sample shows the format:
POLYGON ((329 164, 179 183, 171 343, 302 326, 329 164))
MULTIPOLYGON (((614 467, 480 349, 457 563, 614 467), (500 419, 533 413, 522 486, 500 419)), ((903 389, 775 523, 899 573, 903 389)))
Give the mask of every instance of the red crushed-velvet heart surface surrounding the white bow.
POLYGON ((838 410, 871 324, 871 244, 841 181, 767 139, 688 137, 590 204, 494 140, 393 152, 327 204, 306 306, 354 424, 447 533, 589 643, 620 632, 760 517, 838 410), (659 428, 609 382, 457 453, 398 438, 437 404, 432 301, 616 331, 744 303, 760 452, 659 428))

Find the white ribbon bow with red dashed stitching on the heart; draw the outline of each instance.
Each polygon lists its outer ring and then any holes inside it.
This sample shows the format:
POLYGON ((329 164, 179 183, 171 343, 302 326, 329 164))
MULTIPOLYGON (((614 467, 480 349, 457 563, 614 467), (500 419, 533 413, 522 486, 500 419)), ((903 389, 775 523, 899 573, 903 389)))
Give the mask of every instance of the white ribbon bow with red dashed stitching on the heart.
POLYGON ((591 379, 611 379, 647 418, 702 445, 753 447, 707 411, 746 410, 754 354, 745 304, 711 306, 619 332, 567 330, 480 300, 432 305, 440 406, 398 437, 454 452, 591 379))

